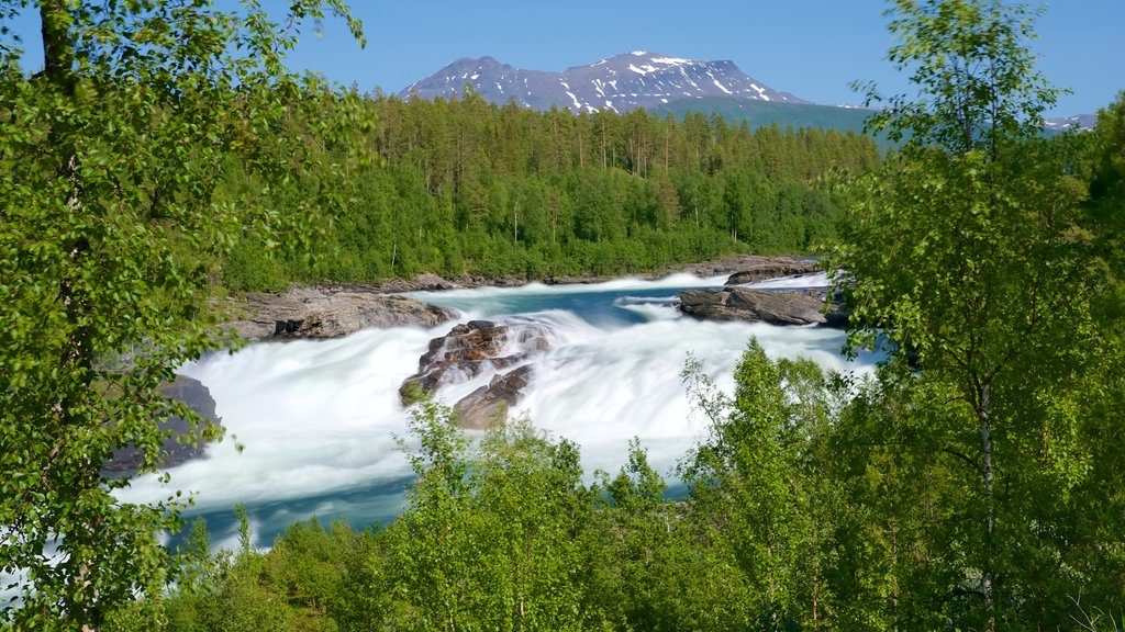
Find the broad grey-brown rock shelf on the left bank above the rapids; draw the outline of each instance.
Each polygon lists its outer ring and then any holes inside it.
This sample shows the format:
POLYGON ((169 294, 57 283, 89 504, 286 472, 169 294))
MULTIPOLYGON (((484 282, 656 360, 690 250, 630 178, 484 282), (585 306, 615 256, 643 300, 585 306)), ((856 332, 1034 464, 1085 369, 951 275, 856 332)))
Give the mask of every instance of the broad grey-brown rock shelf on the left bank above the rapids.
POLYGON ((457 317, 452 309, 361 287, 307 287, 284 295, 251 295, 244 313, 245 318, 228 326, 253 340, 332 338, 370 327, 429 327, 457 317))

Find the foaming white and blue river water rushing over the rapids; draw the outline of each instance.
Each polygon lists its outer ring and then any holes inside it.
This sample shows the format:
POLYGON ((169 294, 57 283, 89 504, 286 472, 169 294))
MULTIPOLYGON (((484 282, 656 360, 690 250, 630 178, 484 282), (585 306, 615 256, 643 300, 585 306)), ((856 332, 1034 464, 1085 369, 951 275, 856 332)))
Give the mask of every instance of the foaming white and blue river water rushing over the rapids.
MULTIPOLYGON (((551 345, 529 360, 532 382, 515 413, 577 442, 587 475, 595 468, 615 472, 628 441, 639 436, 650 462, 668 476, 705 427, 680 381, 690 354, 728 390, 752 337, 774 358, 803 355, 836 371, 873 365, 870 356, 846 363, 838 353, 844 334, 836 329, 701 322, 676 310, 680 288, 722 280, 678 276, 414 296, 462 310, 461 322, 518 317, 548 325, 551 345)), ((174 489, 189 490, 196 506, 188 517, 206 515, 220 541, 235 536, 232 508, 245 503, 260 544, 310 515, 346 516, 359 527, 390 520, 411 478, 395 442, 406 434, 407 422, 398 387, 416 371, 429 341, 452 325, 253 344, 184 367, 183 373, 210 389, 228 439, 210 446, 206 460, 172 468, 170 486, 145 477, 123 490, 122 499, 152 502, 174 489), (240 452, 236 445, 244 448, 240 452)), ((492 376, 446 387, 439 398, 452 404, 492 376)))

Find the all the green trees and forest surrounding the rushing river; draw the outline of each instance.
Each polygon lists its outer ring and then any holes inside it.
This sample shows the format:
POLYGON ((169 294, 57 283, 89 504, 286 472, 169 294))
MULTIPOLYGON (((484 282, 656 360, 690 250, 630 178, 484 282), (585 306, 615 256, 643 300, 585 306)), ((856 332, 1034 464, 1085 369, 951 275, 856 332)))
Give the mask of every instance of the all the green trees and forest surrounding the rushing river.
POLYGON ((883 154, 294 76, 292 20, 362 39, 336 0, 38 7, 42 72, 0 38, 0 630, 1125 625, 1125 93, 1045 137, 1035 10, 889 2, 917 93, 864 88, 883 154), (240 509, 215 550, 187 495, 120 503, 129 477, 100 469, 133 445, 159 471, 170 416, 219 439, 160 386, 227 343, 231 294, 813 250, 847 350, 885 362, 832 374, 748 341, 723 392, 690 361, 709 425, 674 472, 639 440, 586 472, 534 419, 468 433, 423 400, 396 520, 256 550, 240 509))

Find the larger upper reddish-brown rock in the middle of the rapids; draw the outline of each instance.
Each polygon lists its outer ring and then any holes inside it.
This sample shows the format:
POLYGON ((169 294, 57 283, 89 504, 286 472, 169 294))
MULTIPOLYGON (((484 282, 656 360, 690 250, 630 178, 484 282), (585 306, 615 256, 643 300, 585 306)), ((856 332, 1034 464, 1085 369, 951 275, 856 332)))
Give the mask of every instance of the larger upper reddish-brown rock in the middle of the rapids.
POLYGON ((469 320, 430 341, 430 350, 418 360, 418 371, 406 378, 398 394, 403 404, 410 405, 442 385, 518 364, 549 344, 548 331, 539 324, 469 320))

